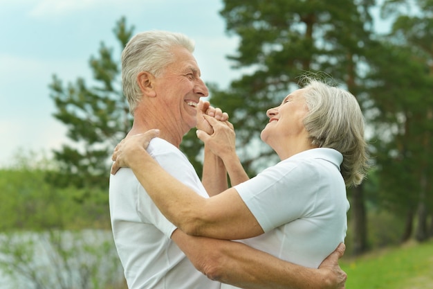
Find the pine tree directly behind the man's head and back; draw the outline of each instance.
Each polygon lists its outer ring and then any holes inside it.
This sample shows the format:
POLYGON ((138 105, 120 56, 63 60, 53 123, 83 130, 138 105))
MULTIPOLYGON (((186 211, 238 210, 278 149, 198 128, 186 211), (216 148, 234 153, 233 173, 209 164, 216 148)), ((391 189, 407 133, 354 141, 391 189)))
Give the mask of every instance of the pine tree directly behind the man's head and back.
MULTIPOLYGON (((125 17, 113 29, 121 49, 132 31, 125 17)), ((54 116, 68 127, 67 136, 74 143, 73 146, 64 144, 62 149, 54 151, 60 170, 50 173, 48 179, 57 186, 108 187, 109 156, 131 128, 129 107, 120 87, 118 62, 113 58, 113 49, 102 42, 99 55, 89 61, 94 85, 89 86, 83 78, 77 78, 75 83, 64 86, 62 80, 53 76, 49 87, 50 97, 57 107, 54 116)))

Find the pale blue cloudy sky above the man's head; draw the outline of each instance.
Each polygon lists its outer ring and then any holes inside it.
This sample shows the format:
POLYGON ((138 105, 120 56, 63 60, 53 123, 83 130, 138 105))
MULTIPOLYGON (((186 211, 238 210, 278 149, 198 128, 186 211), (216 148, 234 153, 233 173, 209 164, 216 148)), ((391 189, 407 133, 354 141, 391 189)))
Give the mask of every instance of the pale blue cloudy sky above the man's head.
POLYGON ((221 0, 0 0, 0 167, 29 152, 49 156, 69 142, 53 117, 48 85, 54 74, 65 85, 90 82, 89 59, 101 42, 120 58, 113 28, 123 16, 133 33, 191 37, 203 80, 226 87, 239 76, 226 58, 237 38, 225 33, 221 8, 221 0))

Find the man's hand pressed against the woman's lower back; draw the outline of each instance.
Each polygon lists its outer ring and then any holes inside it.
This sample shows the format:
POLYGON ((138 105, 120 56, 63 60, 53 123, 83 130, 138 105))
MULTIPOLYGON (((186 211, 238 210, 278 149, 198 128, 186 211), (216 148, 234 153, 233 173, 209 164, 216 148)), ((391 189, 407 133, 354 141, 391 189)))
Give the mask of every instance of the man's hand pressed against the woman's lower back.
POLYGON ((344 289, 347 274, 343 270, 341 270, 340 265, 338 265, 338 259, 340 259, 344 250, 346 249, 346 245, 344 243, 340 243, 337 249, 332 252, 329 256, 322 261, 322 264, 319 266, 319 271, 324 273, 324 283, 326 283, 326 288, 329 289, 344 289))

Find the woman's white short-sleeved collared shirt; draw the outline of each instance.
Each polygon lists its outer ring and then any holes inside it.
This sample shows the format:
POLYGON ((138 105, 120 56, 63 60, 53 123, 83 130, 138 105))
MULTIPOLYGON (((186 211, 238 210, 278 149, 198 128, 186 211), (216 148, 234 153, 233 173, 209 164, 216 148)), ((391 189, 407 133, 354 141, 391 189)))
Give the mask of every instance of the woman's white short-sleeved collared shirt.
MULTIPOLYGON (((241 242, 309 268, 344 241, 346 187, 342 155, 330 148, 300 152, 234 186, 265 234, 241 242)), ((221 289, 235 288, 222 284, 221 289)))

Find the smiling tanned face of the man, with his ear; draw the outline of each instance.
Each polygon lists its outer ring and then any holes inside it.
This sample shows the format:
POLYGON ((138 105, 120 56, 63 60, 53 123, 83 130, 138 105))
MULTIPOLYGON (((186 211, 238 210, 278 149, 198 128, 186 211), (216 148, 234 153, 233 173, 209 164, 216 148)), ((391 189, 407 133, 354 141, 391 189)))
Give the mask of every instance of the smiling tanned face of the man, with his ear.
POLYGON ((196 105, 209 91, 192 53, 183 47, 175 47, 173 53, 174 62, 156 78, 154 89, 163 104, 165 125, 185 134, 196 126, 196 105))

